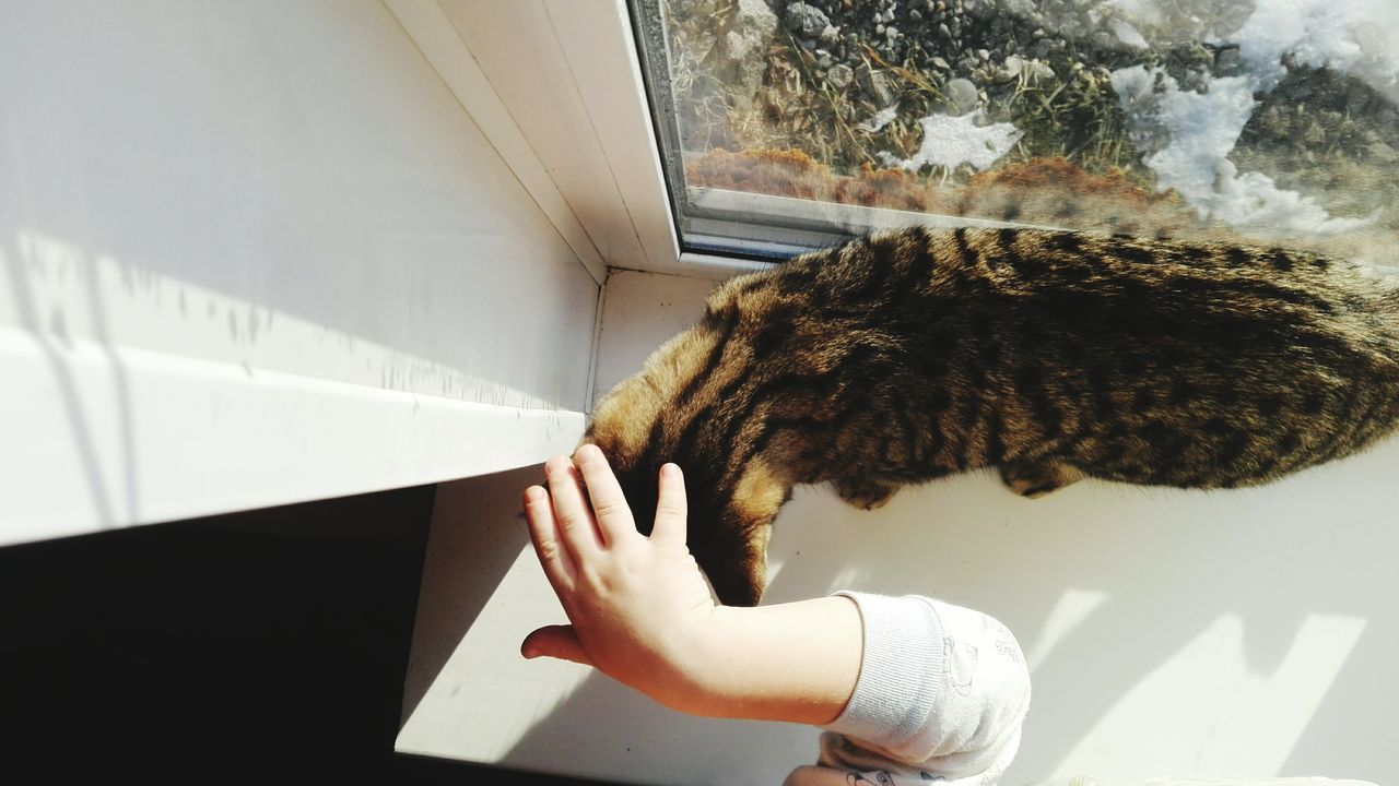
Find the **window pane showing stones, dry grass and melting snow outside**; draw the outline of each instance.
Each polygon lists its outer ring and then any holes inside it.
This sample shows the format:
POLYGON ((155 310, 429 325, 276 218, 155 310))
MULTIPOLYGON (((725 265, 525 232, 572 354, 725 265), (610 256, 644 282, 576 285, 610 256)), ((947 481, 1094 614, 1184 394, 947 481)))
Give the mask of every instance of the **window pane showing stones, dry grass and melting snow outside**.
POLYGON ((1395 4, 638 0, 635 15, 690 252, 782 257, 921 220, 1392 262, 1395 4))

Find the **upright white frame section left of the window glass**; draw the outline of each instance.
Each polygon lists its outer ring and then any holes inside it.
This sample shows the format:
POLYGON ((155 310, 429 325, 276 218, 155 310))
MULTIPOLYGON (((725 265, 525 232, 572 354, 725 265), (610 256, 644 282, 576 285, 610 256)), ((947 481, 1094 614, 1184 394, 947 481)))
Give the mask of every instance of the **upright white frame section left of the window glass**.
POLYGON ((575 246, 673 270, 679 243, 621 0, 386 0, 575 246), (455 34, 455 35, 453 35, 455 34))

